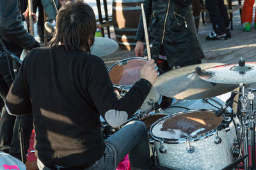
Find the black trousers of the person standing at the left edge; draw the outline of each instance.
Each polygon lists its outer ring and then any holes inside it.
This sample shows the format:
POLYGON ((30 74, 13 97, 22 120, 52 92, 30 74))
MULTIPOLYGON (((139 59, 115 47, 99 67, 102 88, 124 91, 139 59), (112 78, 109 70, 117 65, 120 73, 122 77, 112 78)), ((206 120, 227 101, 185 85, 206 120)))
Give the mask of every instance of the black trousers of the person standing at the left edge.
MULTIPOLYGON (((10 70, 6 56, 0 57, 0 97, 4 103, 6 101, 8 90, 12 85, 12 76, 10 75, 10 71, 13 71, 12 59, 9 59, 9 62, 10 70)), ((6 108, 2 108, 0 120, 0 151, 10 153, 18 159, 21 159, 18 136, 20 119, 22 121, 25 150, 28 150, 29 139, 33 130, 32 115, 26 115, 19 118, 9 115, 6 108)))

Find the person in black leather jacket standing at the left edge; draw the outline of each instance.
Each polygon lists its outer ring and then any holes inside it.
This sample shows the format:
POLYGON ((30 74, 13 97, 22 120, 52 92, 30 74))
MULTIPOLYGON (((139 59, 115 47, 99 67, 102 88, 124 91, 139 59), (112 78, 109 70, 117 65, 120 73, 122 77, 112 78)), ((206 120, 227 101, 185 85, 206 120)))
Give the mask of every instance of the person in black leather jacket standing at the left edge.
MULTIPOLYGON (((24 13, 28 18, 28 13, 24 13)), ((35 18, 36 19, 36 18, 35 18)), ((22 15, 19 10, 19 1, 2 0, 0 3, 0 38, 6 47, 18 57, 23 48, 31 50, 40 46, 35 38, 21 25, 22 15)), ((6 95, 14 79, 12 59, 8 57, 0 45, 0 96, 6 101, 6 95)), ((20 159, 20 143, 18 138, 19 119, 8 115, 5 107, 1 108, 0 122, 0 151, 10 153, 20 159), (16 120, 16 122, 15 122, 16 120), (13 131, 13 127, 15 128, 13 131)), ((24 141, 28 148, 29 137, 33 129, 32 117, 22 117, 24 141)))

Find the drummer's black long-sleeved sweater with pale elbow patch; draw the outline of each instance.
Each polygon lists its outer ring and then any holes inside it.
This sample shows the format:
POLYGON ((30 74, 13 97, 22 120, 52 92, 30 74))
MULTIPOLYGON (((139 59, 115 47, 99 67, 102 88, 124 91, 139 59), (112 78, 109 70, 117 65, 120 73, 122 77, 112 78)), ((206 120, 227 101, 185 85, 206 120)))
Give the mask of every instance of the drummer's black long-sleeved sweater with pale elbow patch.
POLYGON ((110 111, 115 122, 122 111, 127 120, 150 87, 140 80, 118 100, 99 57, 63 46, 35 48, 22 62, 6 106, 14 115, 33 114, 38 159, 49 165, 79 166, 104 154, 99 115, 105 118, 110 111))

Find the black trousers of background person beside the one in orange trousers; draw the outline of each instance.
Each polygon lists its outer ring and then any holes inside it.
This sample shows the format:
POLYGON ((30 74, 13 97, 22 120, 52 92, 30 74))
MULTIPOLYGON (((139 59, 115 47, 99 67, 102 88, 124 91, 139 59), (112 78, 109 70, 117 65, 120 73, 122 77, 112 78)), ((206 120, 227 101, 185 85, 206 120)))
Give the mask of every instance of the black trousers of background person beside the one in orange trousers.
POLYGON ((209 11, 214 32, 218 35, 225 34, 230 21, 224 1, 205 0, 205 7, 209 11))

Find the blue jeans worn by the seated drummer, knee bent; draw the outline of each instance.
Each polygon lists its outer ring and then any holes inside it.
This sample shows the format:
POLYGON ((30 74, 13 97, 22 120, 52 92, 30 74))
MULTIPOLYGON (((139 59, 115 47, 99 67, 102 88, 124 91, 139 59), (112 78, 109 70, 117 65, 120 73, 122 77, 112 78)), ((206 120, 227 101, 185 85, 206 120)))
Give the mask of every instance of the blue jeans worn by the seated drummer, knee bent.
MULTIPOLYGON (((132 121, 105 140, 106 148, 102 158, 84 170, 116 169, 119 162, 129 153, 132 169, 149 169, 149 146, 147 127, 143 122, 132 121)), ((49 170, 40 160, 40 170, 49 170)))

